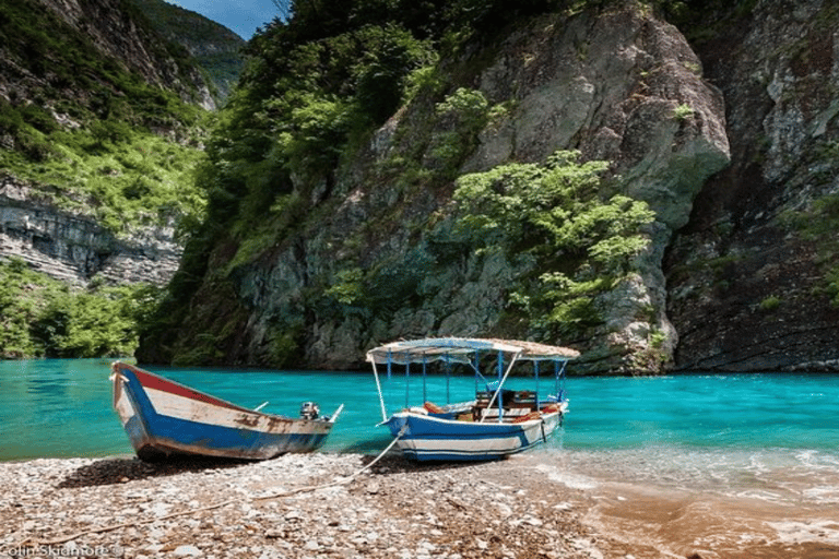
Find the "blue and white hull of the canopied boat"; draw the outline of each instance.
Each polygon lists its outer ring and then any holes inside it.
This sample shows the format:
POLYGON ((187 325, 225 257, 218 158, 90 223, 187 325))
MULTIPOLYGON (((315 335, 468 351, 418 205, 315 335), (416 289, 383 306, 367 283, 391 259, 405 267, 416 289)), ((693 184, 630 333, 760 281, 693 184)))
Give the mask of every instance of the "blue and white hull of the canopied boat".
POLYGON ((559 427, 562 416, 554 412, 522 423, 475 423, 409 411, 393 414, 385 425, 399 437, 397 447, 411 460, 487 461, 545 442, 559 427))

